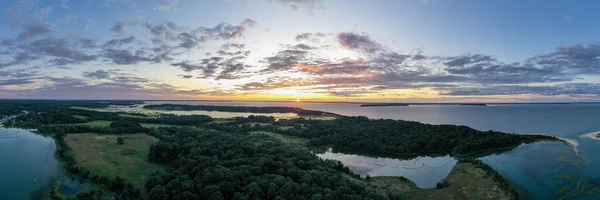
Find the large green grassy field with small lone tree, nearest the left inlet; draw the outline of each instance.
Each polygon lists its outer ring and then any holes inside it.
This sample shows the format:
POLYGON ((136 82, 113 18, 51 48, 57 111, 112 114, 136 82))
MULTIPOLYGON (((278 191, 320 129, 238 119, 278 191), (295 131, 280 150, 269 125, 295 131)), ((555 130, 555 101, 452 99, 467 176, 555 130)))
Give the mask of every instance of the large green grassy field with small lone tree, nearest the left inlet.
POLYGON ((142 186, 150 174, 164 170, 164 167, 147 161, 150 145, 158 140, 143 133, 76 133, 67 135, 65 142, 73 149, 78 166, 94 175, 119 175, 142 186), (125 144, 118 145, 118 137, 124 137, 125 144))

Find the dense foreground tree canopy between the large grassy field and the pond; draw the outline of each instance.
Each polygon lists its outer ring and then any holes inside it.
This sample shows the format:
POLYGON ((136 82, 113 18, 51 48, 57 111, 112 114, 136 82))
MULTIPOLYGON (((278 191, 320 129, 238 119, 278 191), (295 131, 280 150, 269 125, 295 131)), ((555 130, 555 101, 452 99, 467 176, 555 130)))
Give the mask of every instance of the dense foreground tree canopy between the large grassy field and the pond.
POLYGON ((356 185, 339 161, 321 160, 266 135, 153 129, 148 160, 169 171, 146 183, 154 199, 382 199, 356 185))

